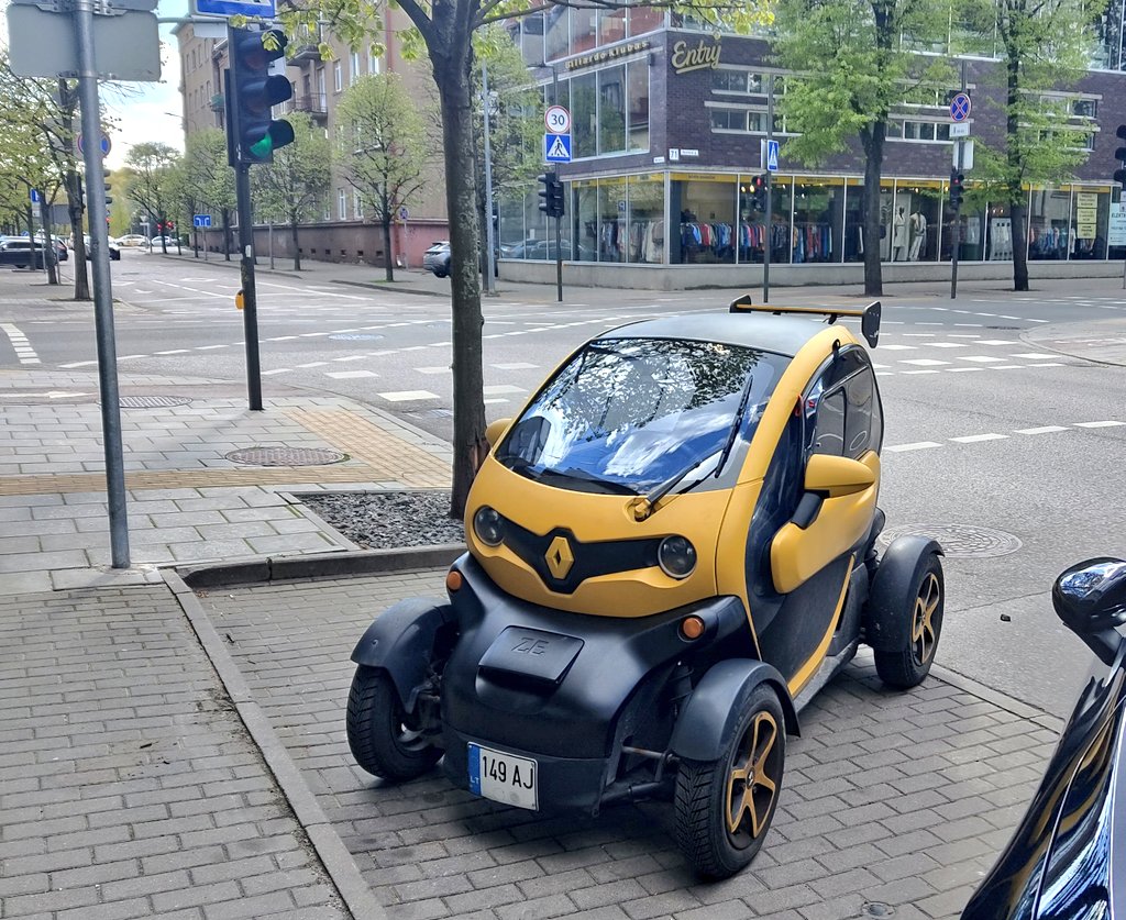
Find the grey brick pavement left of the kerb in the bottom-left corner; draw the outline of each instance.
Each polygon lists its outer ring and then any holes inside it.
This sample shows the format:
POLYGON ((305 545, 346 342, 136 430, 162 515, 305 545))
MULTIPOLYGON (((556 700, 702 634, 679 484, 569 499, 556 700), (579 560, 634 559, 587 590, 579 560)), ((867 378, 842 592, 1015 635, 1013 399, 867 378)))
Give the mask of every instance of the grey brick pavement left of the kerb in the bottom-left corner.
POLYGON ((164 586, 2 597, 0 649, 0 917, 351 917, 164 586))

